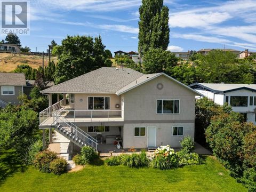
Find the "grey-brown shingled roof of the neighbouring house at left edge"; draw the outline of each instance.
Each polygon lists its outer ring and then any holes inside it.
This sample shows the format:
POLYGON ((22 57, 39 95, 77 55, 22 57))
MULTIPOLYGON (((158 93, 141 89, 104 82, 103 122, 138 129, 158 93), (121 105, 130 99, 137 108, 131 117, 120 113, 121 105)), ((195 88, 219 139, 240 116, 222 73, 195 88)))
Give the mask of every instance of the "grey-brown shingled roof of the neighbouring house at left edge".
POLYGON ((0 73, 0 85, 26 86, 23 73, 0 73))

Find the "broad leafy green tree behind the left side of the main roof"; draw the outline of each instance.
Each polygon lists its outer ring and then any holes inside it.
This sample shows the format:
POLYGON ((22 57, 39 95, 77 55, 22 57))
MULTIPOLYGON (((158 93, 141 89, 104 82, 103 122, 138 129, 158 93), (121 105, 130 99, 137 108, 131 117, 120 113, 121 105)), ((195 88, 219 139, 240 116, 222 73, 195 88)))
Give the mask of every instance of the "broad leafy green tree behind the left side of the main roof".
POLYGON ((58 55, 55 73, 55 84, 83 75, 105 66, 105 46, 101 37, 67 36, 62 45, 56 46, 54 53, 58 55))

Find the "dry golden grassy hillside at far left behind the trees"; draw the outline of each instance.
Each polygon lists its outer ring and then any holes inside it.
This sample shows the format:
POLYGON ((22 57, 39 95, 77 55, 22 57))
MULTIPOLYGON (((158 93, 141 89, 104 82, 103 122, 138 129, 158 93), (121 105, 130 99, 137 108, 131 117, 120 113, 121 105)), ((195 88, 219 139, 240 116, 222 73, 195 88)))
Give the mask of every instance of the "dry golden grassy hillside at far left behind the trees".
MULTIPOLYGON (((51 60, 57 63, 57 57, 51 57, 51 60)), ((49 58, 44 57, 45 66, 48 64, 49 58)), ((27 64, 32 68, 37 69, 42 66, 43 58, 37 55, 19 55, 11 53, 0 53, 0 71, 10 72, 14 70, 18 65, 27 64)))

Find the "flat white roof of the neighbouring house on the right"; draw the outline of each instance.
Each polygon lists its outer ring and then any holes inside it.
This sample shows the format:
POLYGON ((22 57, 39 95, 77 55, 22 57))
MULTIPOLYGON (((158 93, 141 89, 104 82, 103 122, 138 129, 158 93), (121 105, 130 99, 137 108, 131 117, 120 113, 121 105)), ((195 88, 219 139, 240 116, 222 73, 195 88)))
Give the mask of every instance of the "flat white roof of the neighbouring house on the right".
POLYGON ((194 83, 189 85, 193 89, 206 89, 215 93, 226 93, 236 90, 256 91, 256 84, 226 84, 226 83, 194 83))

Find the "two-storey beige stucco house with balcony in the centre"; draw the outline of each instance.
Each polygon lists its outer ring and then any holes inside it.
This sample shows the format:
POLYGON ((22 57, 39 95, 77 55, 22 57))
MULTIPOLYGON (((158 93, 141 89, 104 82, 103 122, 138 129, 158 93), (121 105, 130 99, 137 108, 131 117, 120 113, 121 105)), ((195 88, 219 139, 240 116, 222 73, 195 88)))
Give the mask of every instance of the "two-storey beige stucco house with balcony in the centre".
POLYGON ((195 96, 201 95, 164 73, 112 67, 41 93, 49 95, 49 108, 39 114, 44 138, 45 129, 55 128, 75 145, 99 151, 114 142, 125 149, 179 147, 185 135, 194 138, 195 96), (54 93, 64 99, 52 105, 54 93))

